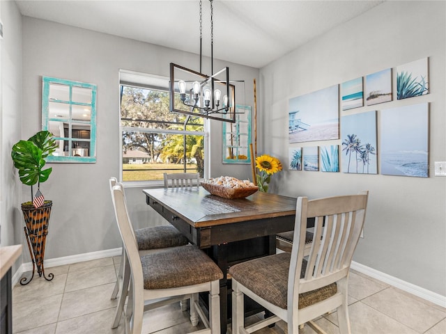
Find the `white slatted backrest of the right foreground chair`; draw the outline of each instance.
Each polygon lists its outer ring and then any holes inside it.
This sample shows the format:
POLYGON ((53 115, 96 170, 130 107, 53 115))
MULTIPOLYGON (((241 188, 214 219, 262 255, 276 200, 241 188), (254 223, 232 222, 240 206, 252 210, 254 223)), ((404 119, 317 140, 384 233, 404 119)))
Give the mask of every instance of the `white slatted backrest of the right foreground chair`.
POLYGON ((368 192, 317 200, 298 198, 289 271, 289 280, 293 280, 290 283, 294 285, 289 299, 296 299, 295 305, 299 293, 324 287, 348 275, 364 224, 367 198, 368 192), (300 278, 307 228, 300 222, 306 222, 309 217, 315 217, 314 235, 306 259, 307 268, 300 278))

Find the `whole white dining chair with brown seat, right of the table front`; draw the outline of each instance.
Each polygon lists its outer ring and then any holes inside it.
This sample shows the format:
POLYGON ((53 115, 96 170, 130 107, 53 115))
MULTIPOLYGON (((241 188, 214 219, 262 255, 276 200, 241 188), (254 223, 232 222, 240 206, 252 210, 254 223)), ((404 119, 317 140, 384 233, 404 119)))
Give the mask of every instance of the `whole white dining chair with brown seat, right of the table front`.
POLYGON ((339 332, 351 333, 348 273, 364 225, 368 194, 298 198, 291 253, 261 257, 229 269, 233 334, 252 333, 281 319, 288 333, 299 333, 299 325, 305 323, 324 333, 312 320, 335 308, 339 332), (312 248, 304 258, 307 217, 315 217, 315 226, 312 248), (274 315, 245 328, 244 295, 274 315))

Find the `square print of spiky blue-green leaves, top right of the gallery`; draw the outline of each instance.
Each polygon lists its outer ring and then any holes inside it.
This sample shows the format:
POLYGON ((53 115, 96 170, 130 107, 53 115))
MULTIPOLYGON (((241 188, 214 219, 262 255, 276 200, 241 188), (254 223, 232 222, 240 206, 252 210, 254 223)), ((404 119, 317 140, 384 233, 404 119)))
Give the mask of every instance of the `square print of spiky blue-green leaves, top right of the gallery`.
POLYGON ((428 59, 397 66, 397 100, 429 94, 428 59))

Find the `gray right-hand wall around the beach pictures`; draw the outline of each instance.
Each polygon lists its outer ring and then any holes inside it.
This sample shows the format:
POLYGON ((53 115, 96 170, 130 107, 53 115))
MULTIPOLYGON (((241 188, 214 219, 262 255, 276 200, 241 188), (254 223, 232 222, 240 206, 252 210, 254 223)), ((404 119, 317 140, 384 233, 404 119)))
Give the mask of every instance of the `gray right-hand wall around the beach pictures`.
POLYGON ((443 296, 446 177, 433 176, 433 161, 446 160, 445 6, 445 1, 386 1, 263 67, 259 129, 265 152, 284 162, 284 172, 273 177, 275 191, 316 198, 368 189, 364 239, 354 260, 443 296), (289 144, 291 97, 428 56, 429 95, 362 111, 430 102, 429 178, 287 170, 290 147, 341 144, 289 144))

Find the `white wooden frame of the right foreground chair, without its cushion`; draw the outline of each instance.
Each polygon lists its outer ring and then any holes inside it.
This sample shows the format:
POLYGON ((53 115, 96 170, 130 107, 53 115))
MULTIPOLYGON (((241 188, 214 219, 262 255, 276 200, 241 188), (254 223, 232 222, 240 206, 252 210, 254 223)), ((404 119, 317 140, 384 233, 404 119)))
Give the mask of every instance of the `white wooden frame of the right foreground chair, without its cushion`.
POLYGON ((299 333, 299 325, 305 323, 308 323, 316 332, 325 333, 312 319, 335 308, 337 308, 340 333, 351 333, 347 302, 348 273, 364 225, 367 198, 368 191, 356 196, 337 196, 318 200, 298 198, 289 267, 288 308, 279 308, 262 299, 233 277, 232 334, 253 333, 280 319, 286 321, 288 333, 299 333), (316 217, 316 223, 305 277, 300 278, 300 269, 305 257, 307 217, 316 217), (323 225, 324 217, 325 224, 323 225), (336 294, 313 305, 298 309, 299 294, 311 292, 334 282, 337 283, 336 294), (245 328, 244 294, 263 305, 275 316, 245 328))

